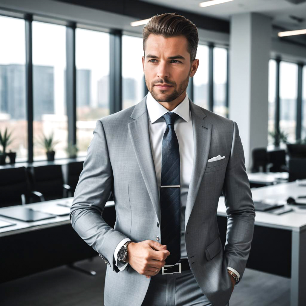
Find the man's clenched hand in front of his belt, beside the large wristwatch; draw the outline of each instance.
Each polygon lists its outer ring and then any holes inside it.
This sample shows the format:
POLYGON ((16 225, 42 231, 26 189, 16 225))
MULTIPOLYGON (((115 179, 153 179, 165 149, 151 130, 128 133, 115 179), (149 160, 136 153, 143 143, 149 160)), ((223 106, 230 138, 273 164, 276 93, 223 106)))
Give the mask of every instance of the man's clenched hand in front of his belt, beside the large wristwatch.
POLYGON ((150 278, 159 273, 170 255, 167 246, 153 240, 130 242, 127 248, 126 261, 139 274, 150 278))

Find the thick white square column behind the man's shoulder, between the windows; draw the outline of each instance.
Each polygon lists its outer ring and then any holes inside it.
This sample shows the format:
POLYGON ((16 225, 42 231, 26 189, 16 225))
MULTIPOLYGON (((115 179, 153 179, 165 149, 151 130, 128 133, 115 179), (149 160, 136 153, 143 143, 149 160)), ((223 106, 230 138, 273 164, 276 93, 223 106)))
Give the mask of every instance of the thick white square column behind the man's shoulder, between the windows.
POLYGON ((258 13, 231 17, 229 117, 237 122, 247 170, 252 149, 267 147, 270 50, 270 17, 258 13))

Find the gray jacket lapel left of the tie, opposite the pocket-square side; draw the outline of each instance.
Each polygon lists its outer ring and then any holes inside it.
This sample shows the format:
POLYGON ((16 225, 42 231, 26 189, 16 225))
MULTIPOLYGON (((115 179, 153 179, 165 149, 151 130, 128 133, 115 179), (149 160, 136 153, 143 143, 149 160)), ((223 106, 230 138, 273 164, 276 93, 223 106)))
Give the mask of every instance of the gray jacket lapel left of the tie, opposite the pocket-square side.
POLYGON ((161 223, 160 201, 157 187, 155 165, 151 150, 151 141, 149 134, 149 120, 146 105, 147 95, 142 101, 134 107, 131 118, 134 121, 128 124, 129 134, 136 154, 144 183, 147 187, 151 202, 153 203, 155 213, 161 223))

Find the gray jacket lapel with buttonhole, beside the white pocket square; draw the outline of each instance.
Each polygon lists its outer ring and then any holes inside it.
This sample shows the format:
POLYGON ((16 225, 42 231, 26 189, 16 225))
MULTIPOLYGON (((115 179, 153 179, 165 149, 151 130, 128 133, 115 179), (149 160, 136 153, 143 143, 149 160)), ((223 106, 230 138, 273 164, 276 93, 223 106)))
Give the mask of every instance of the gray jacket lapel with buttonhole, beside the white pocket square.
POLYGON ((204 120, 206 114, 199 106, 194 104, 190 99, 189 105, 192 117, 194 153, 193 167, 185 209, 185 230, 192 212, 192 208, 196 201, 196 196, 200 188, 200 183, 202 181, 204 171, 206 169, 211 144, 212 127, 212 124, 210 122, 204 120))

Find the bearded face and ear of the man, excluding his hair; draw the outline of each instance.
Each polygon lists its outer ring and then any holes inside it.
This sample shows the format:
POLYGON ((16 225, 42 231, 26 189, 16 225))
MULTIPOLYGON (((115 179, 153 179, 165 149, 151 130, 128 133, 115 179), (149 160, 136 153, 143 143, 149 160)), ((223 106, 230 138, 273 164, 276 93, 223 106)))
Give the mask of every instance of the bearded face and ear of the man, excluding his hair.
POLYGON ((189 77, 196 73, 199 60, 190 64, 185 36, 165 38, 150 34, 142 57, 144 76, 152 97, 159 102, 171 102, 185 97, 189 77))

